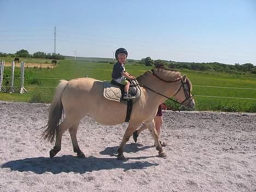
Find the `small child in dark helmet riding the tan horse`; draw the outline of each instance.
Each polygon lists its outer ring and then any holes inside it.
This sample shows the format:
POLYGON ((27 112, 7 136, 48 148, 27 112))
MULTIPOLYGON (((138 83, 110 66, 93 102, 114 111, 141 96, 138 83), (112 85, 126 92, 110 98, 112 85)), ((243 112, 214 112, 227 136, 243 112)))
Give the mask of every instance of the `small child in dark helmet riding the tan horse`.
POLYGON ((123 100, 130 100, 131 98, 135 98, 134 96, 131 96, 129 94, 129 86, 130 82, 126 80, 128 79, 135 79, 135 77, 131 74, 129 74, 127 71, 125 71, 125 61, 128 56, 128 53, 126 49, 119 48, 115 51, 115 59, 117 59, 117 63, 115 63, 112 71, 112 79, 119 83, 124 85, 124 96, 123 100))

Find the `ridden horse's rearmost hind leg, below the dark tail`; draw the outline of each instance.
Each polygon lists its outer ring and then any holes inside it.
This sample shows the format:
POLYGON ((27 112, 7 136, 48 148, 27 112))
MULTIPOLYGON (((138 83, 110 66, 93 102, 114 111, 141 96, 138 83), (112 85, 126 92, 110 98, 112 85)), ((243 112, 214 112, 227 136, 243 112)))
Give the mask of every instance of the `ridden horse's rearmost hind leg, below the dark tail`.
POLYGON ((56 141, 53 149, 50 150, 50 158, 53 158, 61 150, 61 139, 63 133, 73 125, 66 119, 56 128, 56 141))

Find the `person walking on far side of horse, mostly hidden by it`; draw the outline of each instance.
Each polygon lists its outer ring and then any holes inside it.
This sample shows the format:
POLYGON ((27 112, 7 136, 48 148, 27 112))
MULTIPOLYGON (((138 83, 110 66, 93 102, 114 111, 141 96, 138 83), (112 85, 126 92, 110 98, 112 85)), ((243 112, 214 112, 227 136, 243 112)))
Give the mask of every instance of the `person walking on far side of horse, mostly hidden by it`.
MULTIPOLYGON (((155 63, 155 67, 156 68, 164 68, 164 65, 162 65, 160 63, 155 63)), ((161 129, 161 126, 162 126, 162 109, 167 109, 167 107, 164 103, 161 103, 158 106, 158 112, 156 113, 156 115, 154 117, 155 129, 156 129, 156 132, 158 132, 158 136, 160 136, 160 129, 161 129)), ((137 143, 137 138, 139 136, 139 133, 141 133, 145 129, 147 129, 147 127, 143 125, 138 130, 136 130, 132 133, 132 138, 135 141, 135 143, 137 143)), ((159 141, 159 142, 160 142, 162 147, 166 147, 165 142, 161 142, 161 141, 159 141)))

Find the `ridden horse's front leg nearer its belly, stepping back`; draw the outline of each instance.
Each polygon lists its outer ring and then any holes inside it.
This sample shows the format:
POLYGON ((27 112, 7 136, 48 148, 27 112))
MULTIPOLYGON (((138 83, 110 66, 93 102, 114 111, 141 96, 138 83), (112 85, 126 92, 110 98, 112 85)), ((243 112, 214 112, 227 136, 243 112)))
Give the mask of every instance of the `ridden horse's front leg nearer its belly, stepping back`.
POLYGON ((124 134, 124 137, 123 137, 123 140, 120 144, 120 146, 118 147, 118 160, 126 160, 125 156, 124 156, 124 147, 125 147, 125 144, 127 143, 127 141, 129 141, 133 131, 135 131, 139 125, 141 125, 141 123, 129 123, 126 131, 125 131, 125 134, 124 134))

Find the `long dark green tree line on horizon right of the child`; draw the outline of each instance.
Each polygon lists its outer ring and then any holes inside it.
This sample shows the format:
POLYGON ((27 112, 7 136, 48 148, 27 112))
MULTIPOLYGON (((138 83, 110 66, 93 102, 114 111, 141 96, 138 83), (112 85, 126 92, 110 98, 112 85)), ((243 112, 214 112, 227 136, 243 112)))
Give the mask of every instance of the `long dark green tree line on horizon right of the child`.
POLYGON ((166 60, 152 60, 150 57, 143 58, 140 63, 146 66, 153 66, 154 63, 162 64, 171 69, 190 69, 196 71, 216 71, 216 72, 251 72, 256 74, 256 66, 252 63, 245 63, 240 65, 235 63, 235 65, 227 65, 218 62, 208 62, 208 63, 196 63, 196 62, 176 62, 176 61, 166 61, 166 60))

